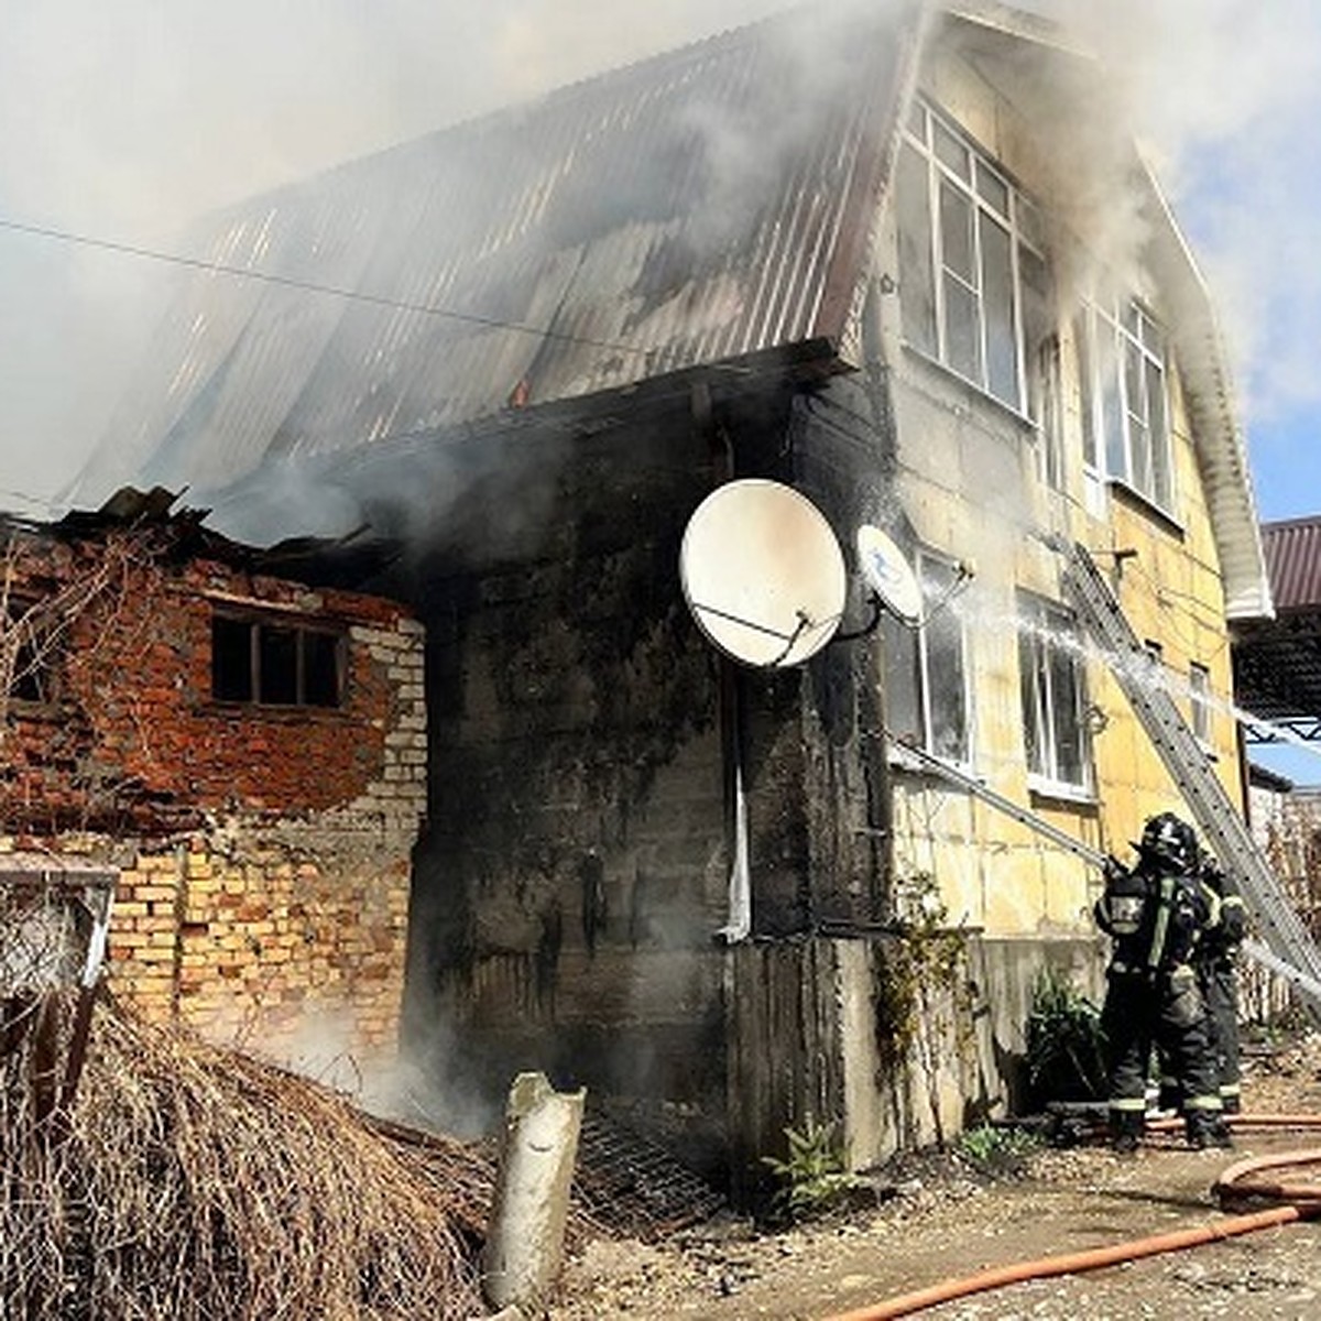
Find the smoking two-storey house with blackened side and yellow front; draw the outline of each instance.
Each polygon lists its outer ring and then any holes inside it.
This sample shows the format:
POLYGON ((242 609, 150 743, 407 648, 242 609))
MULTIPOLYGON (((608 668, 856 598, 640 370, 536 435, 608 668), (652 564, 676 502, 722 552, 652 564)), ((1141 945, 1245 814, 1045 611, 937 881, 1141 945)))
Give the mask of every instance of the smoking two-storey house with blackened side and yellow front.
POLYGON ((1034 979, 1096 972, 1096 876, 968 786, 1122 853, 1178 803, 1062 546, 1240 801, 1247 460, 1119 123, 999 5, 787 15, 203 227, 85 490, 403 547, 363 585, 427 630, 403 1032, 437 1082, 544 1069, 736 1178, 810 1118, 861 1166, 1012 1104, 1034 979), (802 664, 740 666, 687 608, 731 478, 841 547, 802 664), (863 527, 918 626, 873 618, 863 527))

